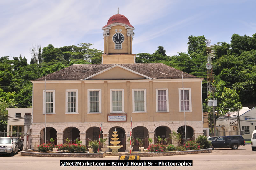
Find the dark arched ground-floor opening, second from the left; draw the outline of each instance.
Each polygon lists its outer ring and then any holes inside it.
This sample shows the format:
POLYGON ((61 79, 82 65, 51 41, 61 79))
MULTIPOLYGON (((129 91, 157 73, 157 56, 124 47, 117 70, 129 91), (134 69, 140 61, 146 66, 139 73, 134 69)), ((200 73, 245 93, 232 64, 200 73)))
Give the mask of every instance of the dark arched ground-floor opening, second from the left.
POLYGON ((76 127, 68 127, 63 132, 63 142, 68 143, 67 139, 70 140, 69 143, 76 143, 76 139, 80 140, 80 131, 76 127))

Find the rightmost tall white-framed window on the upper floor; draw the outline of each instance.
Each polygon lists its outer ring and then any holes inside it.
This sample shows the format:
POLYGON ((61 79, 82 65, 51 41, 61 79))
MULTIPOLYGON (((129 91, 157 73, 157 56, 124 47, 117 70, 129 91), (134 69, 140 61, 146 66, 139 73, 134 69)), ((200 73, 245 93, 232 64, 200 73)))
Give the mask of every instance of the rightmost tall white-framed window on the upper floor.
POLYGON ((191 112, 192 106, 191 106, 191 88, 184 88, 184 94, 183 94, 183 88, 179 88, 179 110, 180 112, 191 112), (184 96, 184 100, 183 100, 184 96))

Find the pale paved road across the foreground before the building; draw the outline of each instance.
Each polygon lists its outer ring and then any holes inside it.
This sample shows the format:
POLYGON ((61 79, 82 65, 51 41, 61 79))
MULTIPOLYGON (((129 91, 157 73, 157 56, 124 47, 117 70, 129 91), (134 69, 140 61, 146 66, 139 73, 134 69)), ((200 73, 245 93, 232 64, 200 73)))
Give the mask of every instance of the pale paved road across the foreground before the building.
POLYGON ((60 167, 60 160, 118 160, 118 156, 106 156, 105 158, 70 158, 70 157, 27 157, 21 156, 20 152, 10 157, 8 155, 0 155, 0 169, 18 169, 18 170, 30 170, 30 169, 42 169, 42 170, 57 170, 57 169, 110 169, 111 170, 124 170, 124 169, 146 169, 146 170, 158 170, 158 169, 255 169, 256 165, 256 152, 252 151, 251 145, 240 146, 237 150, 231 148, 214 149, 212 153, 200 153, 189 155, 175 155, 175 156, 163 156, 163 157, 142 157, 141 160, 193 160, 192 167, 60 167))

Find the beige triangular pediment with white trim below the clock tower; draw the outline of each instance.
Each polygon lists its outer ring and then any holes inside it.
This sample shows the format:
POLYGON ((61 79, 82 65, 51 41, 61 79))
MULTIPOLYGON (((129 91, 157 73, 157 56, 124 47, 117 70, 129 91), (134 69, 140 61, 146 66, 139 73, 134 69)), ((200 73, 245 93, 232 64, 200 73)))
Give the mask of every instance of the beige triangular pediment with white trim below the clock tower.
POLYGON ((86 77, 84 80, 132 80, 132 79, 152 79, 129 68, 118 64, 104 69, 96 74, 86 77))

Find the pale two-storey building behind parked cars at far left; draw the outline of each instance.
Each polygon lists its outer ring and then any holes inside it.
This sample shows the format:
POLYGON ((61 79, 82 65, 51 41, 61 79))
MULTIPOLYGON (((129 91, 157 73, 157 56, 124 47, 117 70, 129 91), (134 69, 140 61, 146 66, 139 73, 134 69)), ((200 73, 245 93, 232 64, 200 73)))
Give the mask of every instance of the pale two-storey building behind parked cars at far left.
POLYGON ((32 115, 33 108, 6 108, 6 110, 8 110, 7 136, 23 137, 24 115, 32 115), (17 131, 14 132, 15 126, 17 126, 17 131))

